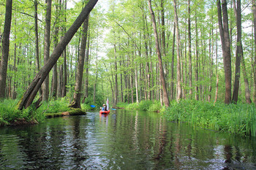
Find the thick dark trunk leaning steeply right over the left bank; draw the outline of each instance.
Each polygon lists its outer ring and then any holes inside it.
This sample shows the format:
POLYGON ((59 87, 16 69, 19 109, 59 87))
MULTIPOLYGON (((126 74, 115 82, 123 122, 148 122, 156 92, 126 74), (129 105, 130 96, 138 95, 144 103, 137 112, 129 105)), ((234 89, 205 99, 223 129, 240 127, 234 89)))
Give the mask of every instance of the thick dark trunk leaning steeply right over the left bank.
POLYGON ((94 8, 96 4, 97 4, 97 0, 90 0, 86 4, 86 7, 83 8, 78 18, 75 20, 72 26, 70 26, 67 33, 64 34, 64 36, 61 38, 61 41, 59 42, 59 44, 54 48, 53 53, 50 55, 50 58, 48 59, 47 63, 45 63, 45 65, 42 66, 42 69, 40 69, 40 71, 34 77, 34 80, 29 85, 29 88, 23 94, 23 98, 21 98, 18 103, 18 109, 27 108, 32 104, 35 96, 37 95, 39 88, 42 85, 42 82, 48 76, 50 70, 53 68, 54 64, 58 61, 59 57, 61 56, 61 53, 63 52, 65 47, 68 45, 68 43, 70 42, 72 37, 75 35, 75 33, 78 31, 78 28, 80 28, 83 21, 86 20, 89 13, 91 12, 91 10, 94 8))

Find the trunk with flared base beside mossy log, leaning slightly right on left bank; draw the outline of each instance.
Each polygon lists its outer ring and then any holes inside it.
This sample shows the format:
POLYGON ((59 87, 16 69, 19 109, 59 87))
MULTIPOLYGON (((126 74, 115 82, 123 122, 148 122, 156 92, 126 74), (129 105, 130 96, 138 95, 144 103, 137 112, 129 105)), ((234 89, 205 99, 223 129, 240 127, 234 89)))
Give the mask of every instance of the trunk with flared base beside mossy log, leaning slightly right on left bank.
POLYGON ((78 70, 75 80, 75 93, 72 103, 69 107, 81 108, 81 95, 82 95, 82 82, 83 82, 83 65, 86 56, 86 43, 87 43, 87 33, 89 25, 89 15, 83 22, 83 36, 81 39, 80 55, 78 58, 78 70))

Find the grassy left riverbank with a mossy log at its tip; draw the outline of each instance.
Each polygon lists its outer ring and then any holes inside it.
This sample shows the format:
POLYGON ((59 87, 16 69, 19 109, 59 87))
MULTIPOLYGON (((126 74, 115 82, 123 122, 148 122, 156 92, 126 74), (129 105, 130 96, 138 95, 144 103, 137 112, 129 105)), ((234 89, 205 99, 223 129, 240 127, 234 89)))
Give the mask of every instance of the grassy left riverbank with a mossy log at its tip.
MULTIPOLYGON (((42 103, 38 109, 29 107, 22 111, 16 109, 18 100, 7 100, 0 102, 0 126, 15 124, 15 122, 42 122, 46 117, 58 117, 62 112, 69 112, 69 115, 81 114, 81 110, 70 109, 69 101, 65 98, 61 100, 49 101, 42 103)), ((91 109, 89 104, 82 104, 82 111, 91 109)))

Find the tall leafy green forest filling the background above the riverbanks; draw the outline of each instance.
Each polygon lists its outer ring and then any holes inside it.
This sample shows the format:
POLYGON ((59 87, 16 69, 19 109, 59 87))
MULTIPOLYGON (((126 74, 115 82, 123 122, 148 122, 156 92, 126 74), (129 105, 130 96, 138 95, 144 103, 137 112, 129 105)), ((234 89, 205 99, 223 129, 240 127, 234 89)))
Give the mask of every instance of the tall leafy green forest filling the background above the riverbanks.
POLYGON ((255 0, 1 0, 0 23, 0 98, 18 110, 192 100, 256 117, 255 0))

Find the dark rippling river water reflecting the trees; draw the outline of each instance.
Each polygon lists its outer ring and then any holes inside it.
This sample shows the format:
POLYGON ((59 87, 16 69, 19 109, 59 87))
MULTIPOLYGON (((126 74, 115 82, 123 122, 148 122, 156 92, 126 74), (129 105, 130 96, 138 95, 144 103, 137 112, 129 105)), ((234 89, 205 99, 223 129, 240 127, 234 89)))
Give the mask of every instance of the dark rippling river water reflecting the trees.
POLYGON ((256 169, 256 142, 117 110, 0 128, 0 169, 256 169))

